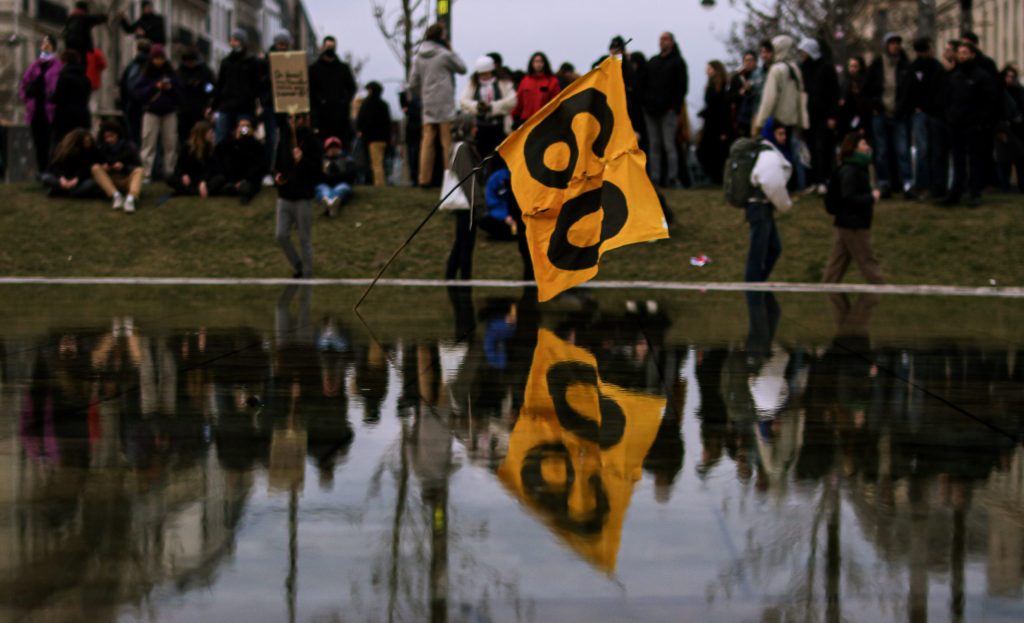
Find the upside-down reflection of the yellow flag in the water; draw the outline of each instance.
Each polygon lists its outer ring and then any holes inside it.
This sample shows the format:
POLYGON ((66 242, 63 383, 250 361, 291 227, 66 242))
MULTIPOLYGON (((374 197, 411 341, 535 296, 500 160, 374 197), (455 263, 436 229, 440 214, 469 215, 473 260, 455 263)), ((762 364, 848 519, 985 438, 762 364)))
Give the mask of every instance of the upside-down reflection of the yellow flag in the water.
POLYGON ((541 330, 498 476, 573 550, 612 572, 665 399, 605 383, 593 355, 541 330))

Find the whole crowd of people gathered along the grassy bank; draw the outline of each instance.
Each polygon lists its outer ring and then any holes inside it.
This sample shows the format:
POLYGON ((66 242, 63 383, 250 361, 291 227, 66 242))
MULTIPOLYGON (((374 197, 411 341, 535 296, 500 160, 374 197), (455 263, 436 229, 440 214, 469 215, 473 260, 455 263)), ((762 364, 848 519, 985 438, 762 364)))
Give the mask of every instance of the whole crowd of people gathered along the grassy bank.
MULTIPOLYGON (((356 97, 352 70, 328 36, 309 66, 310 113, 275 113, 268 53, 294 49, 288 33, 261 51, 237 30, 217 72, 195 48, 184 49, 175 67, 165 47, 164 18, 143 2, 134 23, 118 15, 135 37, 137 53, 120 77, 121 115, 101 120, 93 136, 89 98, 105 63, 91 30, 111 17, 76 3, 62 51, 44 38, 24 75, 20 95, 42 182, 53 196, 105 196, 127 213, 154 179, 177 195, 226 195, 243 204, 274 185, 278 240, 294 275, 310 276, 314 202, 335 216, 357 181, 387 183, 385 163, 396 140, 382 85, 370 82, 366 95, 356 97), (290 242, 292 229, 301 253, 290 242)), ((1015 169, 1024 192, 1024 87, 1016 66, 997 70, 973 33, 946 43, 938 56, 930 40, 919 39, 913 60, 899 35, 884 40, 870 65, 854 56, 842 72, 826 42, 786 35, 744 52, 735 72, 712 60, 697 131, 686 105, 689 70, 671 33, 660 35, 650 57, 627 50, 622 37, 611 40, 608 54, 623 59, 629 115, 656 185, 688 188, 691 171, 702 170, 710 183, 728 186, 730 154, 740 139, 757 142, 755 192, 743 206, 751 224, 748 280, 768 279, 781 253, 773 214, 787 209, 790 193, 800 191, 835 195, 826 200, 837 224, 828 276, 841 279, 853 259, 869 280, 881 282, 865 235, 877 201, 901 193, 905 200, 931 195, 954 206, 967 194, 968 205, 976 207, 990 185, 1012 190, 1015 169), (697 169, 691 168, 690 143, 697 169), (858 173, 847 165, 859 167, 853 169, 858 173), (867 174, 872 167, 877 189, 867 174)), ((452 49, 442 25, 429 27, 399 93, 410 179, 436 189, 446 170, 468 174, 577 78, 571 64, 556 72, 542 51, 529 56, 525 71, 507 67, 498 52, 470 66, 452 49), (457 93, 456 76, 470 69, 457 93), (469 149, 454 149, 460 146, 469 149)), ((457 208, 467 212, 456 218, 446 277, 471 278, 475 227, 467 223, 478 222, 492 237, 518 240, 523 278, 532 279, 525 225, 504 163, 490 159, 462 190, 471 199, 457 208)), ((667 209, 666 216, 671 221, 667 209)))

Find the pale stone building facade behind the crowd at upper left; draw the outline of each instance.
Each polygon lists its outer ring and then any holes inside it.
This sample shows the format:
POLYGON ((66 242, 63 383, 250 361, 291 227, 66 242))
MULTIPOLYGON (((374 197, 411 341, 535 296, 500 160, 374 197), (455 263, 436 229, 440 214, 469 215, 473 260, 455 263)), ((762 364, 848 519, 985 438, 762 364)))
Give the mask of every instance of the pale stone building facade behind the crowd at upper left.
MULTIPOLYGON (((60 40, 65 23, 75 0, 0 0, 0 122, 18 124, 24 109, 17 99, 22 73, 35 57, 44 35, 60 40)), ((288 31, 296 47, 310 54, 316 35, 302 0, 153 0, 167 24, 167 40, 172 60, 188 46, 196 46, 214 69, 230 50, 227 40, 234 29, 245 30, 254 51, 267 49, 274 35, 288 31)), ((134 39, 120 28, 117 13, 126 11, 134 19, 141 11, 140 0, 94 0, 92 12, 110 13, 105 26, 93 29, 95 45, 109 63, 102 87, 93 94, 96 114, 117 110, 117 83, 134 55, 134 39)))

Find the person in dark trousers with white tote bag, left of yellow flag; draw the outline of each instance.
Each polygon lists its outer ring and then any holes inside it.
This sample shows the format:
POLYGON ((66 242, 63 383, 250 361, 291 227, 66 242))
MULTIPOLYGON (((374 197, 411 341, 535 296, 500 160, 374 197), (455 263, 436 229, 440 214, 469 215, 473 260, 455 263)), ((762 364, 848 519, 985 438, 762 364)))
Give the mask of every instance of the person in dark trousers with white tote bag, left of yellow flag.
POLYGON ((455 210, 455 240, 444 268, 444 279, 469 280, 473 278, 473 245, 476 243, 475 215, 484 203, 483 171, 470 173, 480 164, 480 154, 476 151, 475 119, 460 115, 452 126, 452 173, 459 179, 468 177, 462 183, 462 193, 470 205, 455 210), (461 276, 461 277, 460 277, 461 276))

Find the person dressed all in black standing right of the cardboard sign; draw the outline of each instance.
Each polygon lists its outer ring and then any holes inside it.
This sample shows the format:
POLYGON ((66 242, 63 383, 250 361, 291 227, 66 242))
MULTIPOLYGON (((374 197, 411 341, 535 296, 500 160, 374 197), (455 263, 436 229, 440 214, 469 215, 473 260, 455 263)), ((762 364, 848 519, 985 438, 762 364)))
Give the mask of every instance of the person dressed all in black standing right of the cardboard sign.
POLYGON ((321 136, 337 136, 351 146, 355 78, 348 64, 338 57, 337 46, 334 37, 324 37, 321 54, 309 66, 309 103, 321 136))

